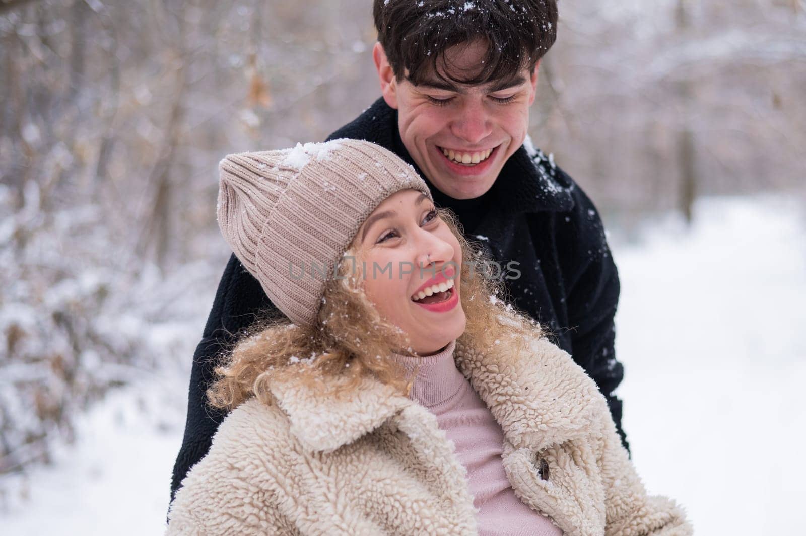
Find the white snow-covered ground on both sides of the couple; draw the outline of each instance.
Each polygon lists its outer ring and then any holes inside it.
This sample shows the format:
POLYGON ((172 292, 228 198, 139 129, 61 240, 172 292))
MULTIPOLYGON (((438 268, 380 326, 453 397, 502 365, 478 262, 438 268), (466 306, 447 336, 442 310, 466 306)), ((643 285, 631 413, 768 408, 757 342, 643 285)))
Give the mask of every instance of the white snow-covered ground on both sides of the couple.
MULTIPOLYGON (((650 491, 688 509, 697 534, 799 531, 804 229, 793 200, 704 199, 692 229, 669 218, 637 243, 613 244, 634 462, 650 491)), ((181 363, 111 393, 52 467, 6 476, 2 534, 162 532, 189 358, 206 313, 181 363)))

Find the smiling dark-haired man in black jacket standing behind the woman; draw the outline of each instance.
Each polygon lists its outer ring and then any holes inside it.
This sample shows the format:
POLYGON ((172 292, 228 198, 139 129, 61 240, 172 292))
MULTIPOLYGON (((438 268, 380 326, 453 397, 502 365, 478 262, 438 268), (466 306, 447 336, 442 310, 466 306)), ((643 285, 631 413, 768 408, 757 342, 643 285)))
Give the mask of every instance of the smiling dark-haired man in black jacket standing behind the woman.
MULTIPOLYGON (((625 442, 613 396, 623 375, 613 353, 616 266, 591 200, 526 136, 538 62, 556 37, 555 0, 374 2, 383 97, 328 139, 400 155, 468 238, 517 269, 505 276, 511 302, 596 381, 625 442)), ((233 255, 193 357, 172 497, 225 416, 204 398, 215 358, 267 310, 277 311, 233 255)))

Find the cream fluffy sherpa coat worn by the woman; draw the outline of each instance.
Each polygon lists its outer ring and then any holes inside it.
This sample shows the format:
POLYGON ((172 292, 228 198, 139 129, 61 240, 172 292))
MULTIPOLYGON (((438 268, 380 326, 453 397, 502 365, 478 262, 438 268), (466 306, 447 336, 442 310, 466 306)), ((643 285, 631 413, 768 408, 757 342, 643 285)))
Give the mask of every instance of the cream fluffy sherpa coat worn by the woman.
MULTIPOLYGON (((555 345, 530 344, 454 354, 503 428, 517 497, 567 536, 692 534, 673 501, 647 497, 596 384, 555 345)), ((168 534, 476 534, 465 469, 425 407, 370 378, 344 398, 298 380, 272 394, 279 407, 253 398, 219 427, 168 534)))

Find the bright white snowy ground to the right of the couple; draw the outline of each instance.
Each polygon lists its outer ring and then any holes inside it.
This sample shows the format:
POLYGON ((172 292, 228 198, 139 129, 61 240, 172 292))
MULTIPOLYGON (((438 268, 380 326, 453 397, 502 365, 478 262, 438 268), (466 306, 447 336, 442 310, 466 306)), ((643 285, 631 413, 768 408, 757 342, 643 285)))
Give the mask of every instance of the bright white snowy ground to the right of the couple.
POLYGON ((697 534, 803 534, 803 208, 703 200, 692 232, 667 222, 614 253, 633 459, 697 534))

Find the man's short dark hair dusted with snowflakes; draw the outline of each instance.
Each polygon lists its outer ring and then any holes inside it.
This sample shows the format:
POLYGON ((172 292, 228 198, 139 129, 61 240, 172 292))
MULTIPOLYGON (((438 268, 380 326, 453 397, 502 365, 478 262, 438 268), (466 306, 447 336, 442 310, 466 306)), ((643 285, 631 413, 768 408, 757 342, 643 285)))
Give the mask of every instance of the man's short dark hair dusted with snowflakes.
POLYGON ((395 77, 408 69, 414 85, 429 72, 454 84, 509 80, 532 72, 557 38, 556 0, 374 0, 372 14, 395 77), (488 44, 484 68, 472 78, 452 76, 444 52, 479 39, 488 44))

